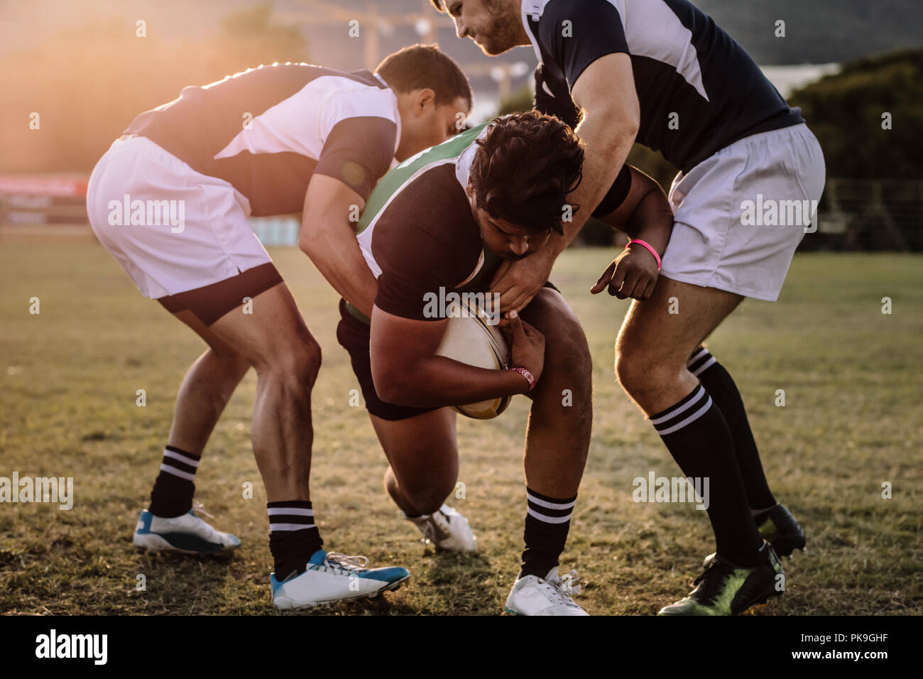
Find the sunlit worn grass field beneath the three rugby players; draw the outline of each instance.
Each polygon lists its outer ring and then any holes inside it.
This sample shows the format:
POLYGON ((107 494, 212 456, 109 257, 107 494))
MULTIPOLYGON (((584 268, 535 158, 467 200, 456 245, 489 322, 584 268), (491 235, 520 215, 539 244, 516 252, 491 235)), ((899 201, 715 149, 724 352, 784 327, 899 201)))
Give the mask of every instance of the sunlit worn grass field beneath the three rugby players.
MULTIPOLYGON (((384 456, 365 410, 348 405, 356 385, 335 339, 335 294, 297 249, 272 255, 324 350, 312 499, 326 547, 413 573, 384 600, 334 612, 501 612, 521 551, 528 402, 490 422, 460 418, 465 497, 450 503, 471 520, 480 551, 433 552, 383 491, 384 456)), ((594 358, 593 443, 562 571, 578 570, 588 612, 650 614, 688 593, 713 542, 691 504, 632 502, 632 479, 678 469, 614 381, 627 305, 587 293, 611 256, 569 251, 553 276, 594 358)), ((913 256, 799 255, 779 302, 745 302, 710 342, 744 395, 776 497, 808 533, 809 551, 785 563, 785 596, 755 614, 923 613, 921 271, 913 256), (882 297, 892 314, 881 313, 882 297), (774 405, 779 389, 784 407, 774 405), (882 498, 886 481, 891 499, 882 498)), ((75 495, 70 511, 0 504, 0 612, 274 614, 265 493, 249 442, 252 372, 197 479, 211 522, 243 547, 223 562, 151 556, 131 534, 200 341, 80 238, 0 238, 0 319, 0 477, 73 477, 75 495), (30 314, 30 297, 40 314, 30 314)))

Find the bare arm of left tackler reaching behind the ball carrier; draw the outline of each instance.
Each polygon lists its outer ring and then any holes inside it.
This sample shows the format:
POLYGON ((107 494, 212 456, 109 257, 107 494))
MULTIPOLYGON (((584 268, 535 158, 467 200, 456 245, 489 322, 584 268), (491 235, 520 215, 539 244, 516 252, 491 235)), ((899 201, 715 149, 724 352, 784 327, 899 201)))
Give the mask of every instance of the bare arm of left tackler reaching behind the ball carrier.
POLYGON ((353 188, 316 173, 307 185, 298 245, 344 299, 370 316, 378 285, 351 221, 365 206, 353 188))

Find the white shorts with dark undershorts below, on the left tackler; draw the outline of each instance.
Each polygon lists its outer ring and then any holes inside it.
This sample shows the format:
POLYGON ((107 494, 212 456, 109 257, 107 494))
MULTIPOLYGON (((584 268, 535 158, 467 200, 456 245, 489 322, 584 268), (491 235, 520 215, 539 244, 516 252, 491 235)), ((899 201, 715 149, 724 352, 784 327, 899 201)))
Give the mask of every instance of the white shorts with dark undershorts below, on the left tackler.
POLYGON ((271 261, 246 221, 242 193, 145 137, 116 139, 105 152, 90 175, 87 212, 145 297, 194 290, 271 261))

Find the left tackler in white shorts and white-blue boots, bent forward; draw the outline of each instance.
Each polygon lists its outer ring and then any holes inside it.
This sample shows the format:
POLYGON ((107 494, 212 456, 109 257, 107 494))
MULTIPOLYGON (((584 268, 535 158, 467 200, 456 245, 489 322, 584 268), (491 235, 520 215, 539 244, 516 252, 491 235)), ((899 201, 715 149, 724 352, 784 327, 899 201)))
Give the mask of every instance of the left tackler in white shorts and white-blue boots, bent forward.
MULTIPOLYGON (((471 103, 462 71, 435 46, 390 55, 375 74, 261 66, 187 87, 138 115, 102 156, 87 193, 93 231, 144 297, 209 346, 180 387, 136 545, 199 554, 240 544, 192 510, 193 481, 211 430, 252 367, 252 439, 269 501, 275 604, 375 596, 409 577, 322 549, 308 483, 320 347, 247 216, 303 212, 303 230, 330 222, 348 228, 350 212, 362 209, 392 162, 454 134, 471 103), (130 223, 114 216, 123 200, 141 206, 130 223), (144 204, 161 201, 182 206, 182 224, 151 223, 144 204)), ((366 266, 352 230, 325 247, 366 266)), ((362 289, 361 275, 353 281, 348 290, 362 289)))

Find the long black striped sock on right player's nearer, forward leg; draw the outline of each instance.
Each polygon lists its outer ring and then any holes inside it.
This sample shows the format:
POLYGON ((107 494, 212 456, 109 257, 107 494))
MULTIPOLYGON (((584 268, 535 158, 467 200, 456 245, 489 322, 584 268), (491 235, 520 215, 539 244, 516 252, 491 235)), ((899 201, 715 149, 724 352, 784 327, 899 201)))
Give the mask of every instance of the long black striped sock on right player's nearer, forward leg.
POLYGON ((699 385, 653 415, 651 423, 687 477, 709 479, 709 497, 703 500, 717 552, 737 565, 759 564, 762 539, 750 515, 731 431, 712 397, 699 385))

